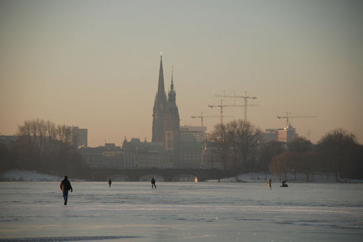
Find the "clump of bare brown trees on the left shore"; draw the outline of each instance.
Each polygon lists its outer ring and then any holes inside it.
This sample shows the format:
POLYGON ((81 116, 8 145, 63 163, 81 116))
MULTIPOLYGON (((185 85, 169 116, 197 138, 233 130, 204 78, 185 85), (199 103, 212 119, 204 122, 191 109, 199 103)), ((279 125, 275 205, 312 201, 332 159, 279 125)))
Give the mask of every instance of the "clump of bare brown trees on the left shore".
POLYGON ((73 144, 72 127, 50 120, 27 120, 18 125, 17 139, 0 147, 1 170, 30 169, 70 174, 84 168, 82 156, 73 144))

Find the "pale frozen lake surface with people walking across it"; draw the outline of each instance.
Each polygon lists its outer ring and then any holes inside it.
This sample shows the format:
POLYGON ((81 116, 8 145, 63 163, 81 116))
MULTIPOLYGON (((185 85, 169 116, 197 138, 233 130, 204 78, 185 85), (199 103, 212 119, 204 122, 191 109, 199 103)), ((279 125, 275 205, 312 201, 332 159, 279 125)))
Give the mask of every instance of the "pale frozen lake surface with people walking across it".
POLYGON ((0 241, 363 241, 362 184, 71 183, 0 182, 0 241))

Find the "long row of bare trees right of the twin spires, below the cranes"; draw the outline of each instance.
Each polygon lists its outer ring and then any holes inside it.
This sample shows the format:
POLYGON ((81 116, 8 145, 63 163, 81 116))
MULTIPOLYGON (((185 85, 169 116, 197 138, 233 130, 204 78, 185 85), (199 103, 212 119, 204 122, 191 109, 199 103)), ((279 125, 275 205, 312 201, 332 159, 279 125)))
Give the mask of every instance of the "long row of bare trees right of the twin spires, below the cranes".
POLYGON ((217 124, 208 139, 212 159, 225 170, 271 171, 282 179, 303 172, 308 181, 316 172, 332 172, 336 179, 363 179, 363 145, 344 129, 329 131, 317 144, 304 137, 290 143, 265 142, 260 129, 238 120, 217 124))

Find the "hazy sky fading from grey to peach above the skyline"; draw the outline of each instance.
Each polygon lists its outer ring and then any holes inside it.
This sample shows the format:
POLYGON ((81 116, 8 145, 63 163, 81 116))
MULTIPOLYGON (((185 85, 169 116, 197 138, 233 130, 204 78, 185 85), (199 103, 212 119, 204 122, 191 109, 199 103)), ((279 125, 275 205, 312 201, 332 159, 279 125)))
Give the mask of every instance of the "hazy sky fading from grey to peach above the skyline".
POLYGON ((90 146, 151 140, 163 51, 181 125, 246 90, 261 129, 290 111, 318 116, 291 120, 313 142, 340 127, 363 143, 362 43, 363 1, 0 1, 0 133, 40 118, 88 129, 90 146))

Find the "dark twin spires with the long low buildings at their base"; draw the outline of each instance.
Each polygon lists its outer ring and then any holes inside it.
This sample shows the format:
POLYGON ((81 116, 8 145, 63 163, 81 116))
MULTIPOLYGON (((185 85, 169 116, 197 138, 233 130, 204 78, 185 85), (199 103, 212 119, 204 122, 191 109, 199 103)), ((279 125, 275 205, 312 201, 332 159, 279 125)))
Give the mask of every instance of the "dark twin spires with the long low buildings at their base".
MULTIPOLYGON (((173 74, 173 73, 172 73, 173 74)), ((171 76, 170 90, 165 92, 163 57, 160 56, 158 89, 152 112, 151 142, 140 138, 124 140, 122 147, 106 144, 105 147, 82 147, 85 163, 95 169, 124 168, 200 168, 203 141, 195 134, 204 134, 191 127, 180 129, 177 93, 171 76)), ((198 127, 199 128, 199 127, 198 127)), ((199 130, 199 129, 198 129, 199 130)))

